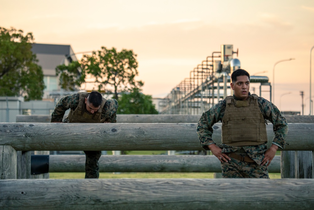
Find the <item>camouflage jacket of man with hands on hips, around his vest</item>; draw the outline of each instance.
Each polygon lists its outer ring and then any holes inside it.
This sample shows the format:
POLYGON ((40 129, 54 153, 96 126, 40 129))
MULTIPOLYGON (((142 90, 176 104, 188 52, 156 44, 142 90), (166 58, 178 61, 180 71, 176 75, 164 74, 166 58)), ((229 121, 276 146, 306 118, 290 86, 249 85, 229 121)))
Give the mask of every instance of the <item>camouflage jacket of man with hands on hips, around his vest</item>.
MULTIPOLYGON (((249 93, 249 95, 251 95, 249 93)), ((235 95, 233 97, 236 100, 235 95)), ((258 97, 257 99, 258 106, 263 114, 263 117, 266 120, 269 120, 273 123, 273 131, 275 133, 273 138, 273 144, 279 146, 279 148, 284 149, 285 139, 288 132, 288 123, 284 116, 281 115, 278 108, 268 100, 258 97)), ((198 139, 200 140, 201 146, 205 150, 209 150, 207 145, 215 144, 212 139, 213 135, 213 125, 219 121, 221 121, 222 117, 225 114, 226 109, 226 99, 219 101, 217 104, 212 106, 209 110, 205 111, 201 118, 198 121, 197 126, 197 134, 198 139)), ((236 152, 243 148, 248 156, 250 156, 255 162, 258 164, 262 163, 264 158, 264 152, 267 150, 266 143, 262 145, 254 145, 254 146, 228 146, 225 144, 219 145, 222 148, 222 152, 236 152)))

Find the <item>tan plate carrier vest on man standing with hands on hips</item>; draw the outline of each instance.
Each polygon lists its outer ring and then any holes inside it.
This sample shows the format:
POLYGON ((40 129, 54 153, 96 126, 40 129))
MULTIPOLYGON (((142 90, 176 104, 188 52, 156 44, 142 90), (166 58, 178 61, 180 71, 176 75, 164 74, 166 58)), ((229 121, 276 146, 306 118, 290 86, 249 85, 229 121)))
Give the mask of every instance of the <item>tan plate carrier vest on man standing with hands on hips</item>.
POLYGON ((267 142, 266 120, 258 107, 257 95, 245 101, 226 97, 222 118, 222 143, 229 146, 260 145, 267 142))

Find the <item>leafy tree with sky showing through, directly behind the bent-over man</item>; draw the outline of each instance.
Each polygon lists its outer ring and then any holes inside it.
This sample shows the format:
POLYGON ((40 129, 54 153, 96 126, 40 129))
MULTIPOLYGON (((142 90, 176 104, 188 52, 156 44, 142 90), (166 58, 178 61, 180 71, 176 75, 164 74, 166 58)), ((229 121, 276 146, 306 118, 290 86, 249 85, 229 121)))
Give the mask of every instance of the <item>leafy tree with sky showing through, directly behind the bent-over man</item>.
POLYGON ((92 55, 83 55, 80 65, 59 65, 56 72, 62 76, 60 83, 65 89, 73 84, 81 85, 89 75, 99 84, 98 91, 113 93, 114 98, 118 99, 119 92, 143 86, 142 81, 135 80, 138 75, 136 56, 132 50, 122 49, 118 52, 116 48, 101 47, 101 50, 94 51, 92 55), (77 71, 80 75, 76 74, 77 71))

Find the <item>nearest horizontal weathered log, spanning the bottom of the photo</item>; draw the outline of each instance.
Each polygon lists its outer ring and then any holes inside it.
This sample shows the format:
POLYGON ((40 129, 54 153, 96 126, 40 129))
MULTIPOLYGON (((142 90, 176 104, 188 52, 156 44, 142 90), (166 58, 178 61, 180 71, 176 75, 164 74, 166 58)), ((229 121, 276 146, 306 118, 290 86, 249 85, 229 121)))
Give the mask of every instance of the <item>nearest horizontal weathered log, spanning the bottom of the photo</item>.
POLYGON ((0 186, 6 210, 314 208, 314 179, 18 179, 0 186))

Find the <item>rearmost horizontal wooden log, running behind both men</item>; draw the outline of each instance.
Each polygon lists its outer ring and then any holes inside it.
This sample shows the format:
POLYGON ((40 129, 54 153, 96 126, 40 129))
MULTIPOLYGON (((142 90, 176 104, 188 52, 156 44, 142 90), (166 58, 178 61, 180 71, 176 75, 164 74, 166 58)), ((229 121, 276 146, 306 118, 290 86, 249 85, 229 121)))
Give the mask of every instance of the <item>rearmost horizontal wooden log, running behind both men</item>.
MULTIPOLYGON (((197 123, 201 115, 117 115, 118 123, 197 123)), ((287 115, 288 123, 314 123, 312 115, 287 115)), ((50 122, 51 115, 17 115, 16 122, 50 122)))

